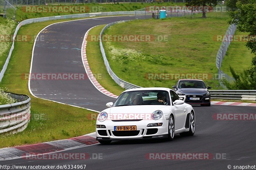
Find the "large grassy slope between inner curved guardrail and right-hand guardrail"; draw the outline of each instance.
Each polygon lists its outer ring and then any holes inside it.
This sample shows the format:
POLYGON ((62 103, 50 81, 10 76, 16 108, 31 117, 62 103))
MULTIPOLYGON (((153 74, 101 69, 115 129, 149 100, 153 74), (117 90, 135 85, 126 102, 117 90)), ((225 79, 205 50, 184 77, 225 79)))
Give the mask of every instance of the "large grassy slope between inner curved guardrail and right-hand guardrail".
MULTIPOLYGON (((207 85, 221 89, 217 74, 216 54, 221 42, 215 35, 224 35, 228 28, 228 15, 208 13, 168 18, 164 20, 134 20, 111 26, 105 35, 167 36, 167 41, 111 41, 103 42, 112 70, 119 78, 142 87, 164 86, 172 88, 177 79, 148 79, 148 73, 202 74, 207 85), (150 26, 150 28, 149 28, 150 26), (133 52, 131 53, 131 51, 133 52)), ((182 77, 179 77, 182 78, 182 77)))

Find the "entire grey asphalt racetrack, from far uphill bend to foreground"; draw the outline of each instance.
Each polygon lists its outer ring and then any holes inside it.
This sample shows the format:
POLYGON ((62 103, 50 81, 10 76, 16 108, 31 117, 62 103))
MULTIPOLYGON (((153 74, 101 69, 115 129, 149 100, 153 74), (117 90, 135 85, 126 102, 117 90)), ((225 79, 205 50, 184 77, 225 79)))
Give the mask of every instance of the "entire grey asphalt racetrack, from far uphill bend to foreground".
MULTIPOLYGON (((85 32, 96 25, 133 17, 93 18, 54 24, 36 42, 32 73, 85 73, 81 46, 85 32)), ((104 67, 104 66, 103 66, 104 67)), ((37 97, 97 111, 106 108, 114 98, 99 92, 86 80, 31 80, 31 90, 37 97)), ((228 169, 231 166, 256 165, 255 121, 215 120, 214 114, 256 112, 256 107, 194 106, 196 131, 192 137, 176 135, 173 141, 114 141, 109 145, 94 144, 61 153, 98 153, 102 159, 86 160, 26 160, 1 161, 1 165, 86 165, 85 169, 228 169), (155 160, 150 153, 207 153, 211 159, 155 160), (220 156, 222 155, 222 156, 220 156)))

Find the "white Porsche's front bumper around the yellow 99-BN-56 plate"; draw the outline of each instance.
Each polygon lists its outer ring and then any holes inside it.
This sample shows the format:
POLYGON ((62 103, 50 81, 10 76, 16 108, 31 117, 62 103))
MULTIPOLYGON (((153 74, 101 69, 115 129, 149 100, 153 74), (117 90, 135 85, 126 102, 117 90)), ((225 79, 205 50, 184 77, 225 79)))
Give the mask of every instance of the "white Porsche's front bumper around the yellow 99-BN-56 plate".
POLYGON ((96 122, 97 125, 105 125, 106 128, 96 128, 97 140, 131 140, 152 139, 168 137, 168 120, 141 120, 113 122, 111 120, 96 122), (162 126, 147 127, 149 123, 163 123, 162 126), (136 126, 136 130, 115 131, 114 126, 136 126))

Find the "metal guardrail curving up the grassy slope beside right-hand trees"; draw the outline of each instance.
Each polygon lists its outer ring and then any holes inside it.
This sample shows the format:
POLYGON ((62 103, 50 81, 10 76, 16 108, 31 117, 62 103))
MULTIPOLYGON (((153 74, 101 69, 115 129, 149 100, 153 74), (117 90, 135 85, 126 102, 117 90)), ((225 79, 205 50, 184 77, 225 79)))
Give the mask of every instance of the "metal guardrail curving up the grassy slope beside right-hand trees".
MULTIPOLYGON (((233 36, 236 31, 236 25, 232 24, 228 27, 228 30, 225 34, 226 37, 233 36)), ((229 82, 234 81, 235 79, 225 74, 222 70, 220 70, 221 63, 223 61, 224 56, 226 55, 226 52, 228 50, 228 46, 230 45, 231 41, 222 41, 219 51, 216 56, 216 66, 218 68, 218 74, 221 75, 222 78, 227 79, 229 82)), ((221 79, 219 79, 220 85, 224 88, 225 85, 222 84, 221 79)))

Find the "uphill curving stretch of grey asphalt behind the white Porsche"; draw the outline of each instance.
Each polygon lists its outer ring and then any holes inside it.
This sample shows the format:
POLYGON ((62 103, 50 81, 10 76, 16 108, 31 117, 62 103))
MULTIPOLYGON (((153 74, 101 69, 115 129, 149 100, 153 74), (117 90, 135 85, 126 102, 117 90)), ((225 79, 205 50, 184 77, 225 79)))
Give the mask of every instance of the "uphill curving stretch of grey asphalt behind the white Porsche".
MULTIPOLYGON (((137 16, 137 18, 144 18, 144 16, 137 16)), ((106 103, 115 101, 115 98, 98 91, 86 78, 81 58, 84 34, 93 26, 130 19, 134 19, 134 16, 90 18, 57 23, 45 28, 38 35, 38 37, 43 37, 44 41, 36 41, 34 48, 30 80, 31 92, 39 98, 97 111, 107 108, 106 103), (85 78, 76 80, 32 78, 32 75, 41 73, 85 74, 85 78)), ((99 67, 105 67, 105 65, 99 67)))

